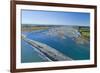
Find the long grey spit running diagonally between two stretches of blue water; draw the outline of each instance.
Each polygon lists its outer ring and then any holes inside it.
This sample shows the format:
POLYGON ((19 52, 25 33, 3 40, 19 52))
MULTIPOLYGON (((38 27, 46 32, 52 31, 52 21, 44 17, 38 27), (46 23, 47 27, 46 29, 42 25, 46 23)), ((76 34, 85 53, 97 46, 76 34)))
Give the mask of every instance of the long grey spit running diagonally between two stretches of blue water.
POLYGON ((24 41, 26 41, 27 43, 29 43, 31 46, 35 47, 36 49, 38 49, 40 51, 40 53, 42 53, 42 55, 46 55, 47 59, 50 61, 69 61, 72 60, 70 57, 65 56, 64 54, 62 54, 61 52, 57 51, 56 49, 35 41, 35 40, 31 40, 26 38, 25 35, 22 35, 22 38, 24 41))

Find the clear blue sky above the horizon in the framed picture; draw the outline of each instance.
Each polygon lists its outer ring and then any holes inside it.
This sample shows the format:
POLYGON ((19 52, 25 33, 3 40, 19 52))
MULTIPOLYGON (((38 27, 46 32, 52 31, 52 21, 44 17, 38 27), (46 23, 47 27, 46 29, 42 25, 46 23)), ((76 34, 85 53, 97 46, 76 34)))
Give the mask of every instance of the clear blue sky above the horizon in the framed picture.
POLYGON ((90 13, 21 10, 22 24, 37 25, 90 25, 90 13))

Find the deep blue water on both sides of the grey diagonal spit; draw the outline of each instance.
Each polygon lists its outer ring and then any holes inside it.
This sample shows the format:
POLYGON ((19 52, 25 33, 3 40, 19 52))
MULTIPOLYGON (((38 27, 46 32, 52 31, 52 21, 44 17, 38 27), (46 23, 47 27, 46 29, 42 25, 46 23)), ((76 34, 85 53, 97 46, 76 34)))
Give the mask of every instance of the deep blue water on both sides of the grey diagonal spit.
MULTIPOLYGON (((45 43, 52 48, 57 49, 61 53, 74 60, 90 59, 90 45, 81 45, 76 43, 72 38, 66 36, 66 39, 61 39, 58 36, 49 36, 45 33, 48 30, 38 32, 23 32, 27 38, 45 43)), ((22 40, 22 62, 42 62, 44 61, 34 49, 22 40)))

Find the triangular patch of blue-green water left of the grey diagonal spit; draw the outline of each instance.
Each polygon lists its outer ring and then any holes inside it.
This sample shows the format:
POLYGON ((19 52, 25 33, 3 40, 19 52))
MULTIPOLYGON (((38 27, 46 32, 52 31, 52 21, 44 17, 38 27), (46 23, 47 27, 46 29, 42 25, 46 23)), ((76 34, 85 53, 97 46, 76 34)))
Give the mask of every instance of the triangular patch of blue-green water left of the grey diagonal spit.
POLYGON ((21 41, 21 62, 41 62, 45 61, 39 56, 39 54, 34 50, 34 47, 26 43, 24 40, 21 41))

